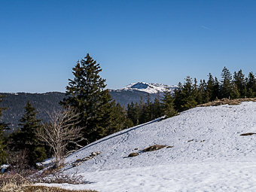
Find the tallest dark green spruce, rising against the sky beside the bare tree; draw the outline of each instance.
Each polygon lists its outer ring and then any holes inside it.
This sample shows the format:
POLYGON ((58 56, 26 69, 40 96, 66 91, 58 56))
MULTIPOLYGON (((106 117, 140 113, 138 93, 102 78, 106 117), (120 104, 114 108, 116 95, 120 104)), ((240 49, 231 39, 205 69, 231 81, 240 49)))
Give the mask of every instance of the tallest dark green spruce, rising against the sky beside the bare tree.
POLYGON ((87 142, 93 142, 105 136, 111 124, 111 96, 105 90, 105 79, 99 75, 102 72, 89 53, 78 61, 73 68, 74 80, 69 79, 66 87, 66 98, 60 102, 63 106, 72 106, 80 114, 79 126, 87 142))

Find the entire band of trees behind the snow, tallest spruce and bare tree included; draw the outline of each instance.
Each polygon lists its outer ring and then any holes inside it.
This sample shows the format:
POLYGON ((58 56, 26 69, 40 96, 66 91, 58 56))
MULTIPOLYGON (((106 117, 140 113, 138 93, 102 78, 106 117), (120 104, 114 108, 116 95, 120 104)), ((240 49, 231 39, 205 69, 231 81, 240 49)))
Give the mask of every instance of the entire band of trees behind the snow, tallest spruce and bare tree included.
MULTIPOLYGON (((62 163, 68 151, 108 136, 111 133, 154 120, 166 115, 172 117, 180 111, 194 108, 215 99, 256 96, 256 80, 253 73, 248 78, 242 70, 233 76, 225 67, 221 81, 209 74, 208 81, 187 77, 179 83, 173 94, 166 90, 163 98, 121 106, 111 99, 105 89, 105 79, 99 75, 102 69, 89 55, 78 61, 72 69, 74 79, 69 79, 66 97, 59 104, 62 111, 50 115, 50 122, 42 123, 36 118, 37 111, 27 102, 26 113, 20 119, 19 129, 4 134, 8 124, 0 122, 0 164, 8 163, 14 157, 26 157, 29 166, 47 157, 55 157, 56 165, 62 163), (23 155, 26 154, 26 155, 23 155)), ((2 97, 0 97, 0 102, 2 97)), ((0 108, 0 116, 2 115, 0 108)))

